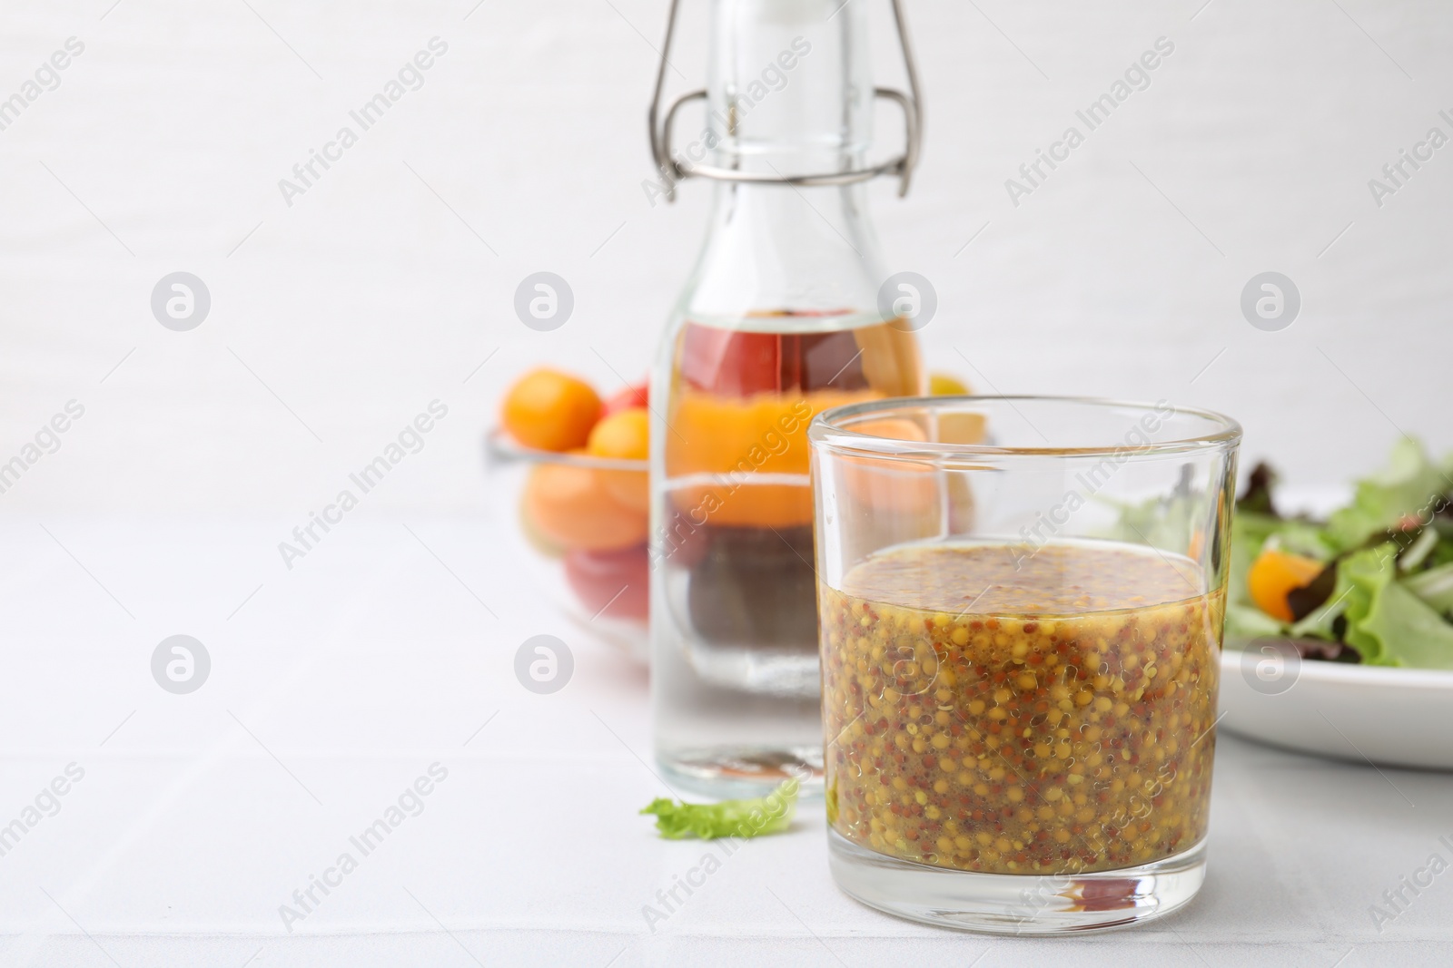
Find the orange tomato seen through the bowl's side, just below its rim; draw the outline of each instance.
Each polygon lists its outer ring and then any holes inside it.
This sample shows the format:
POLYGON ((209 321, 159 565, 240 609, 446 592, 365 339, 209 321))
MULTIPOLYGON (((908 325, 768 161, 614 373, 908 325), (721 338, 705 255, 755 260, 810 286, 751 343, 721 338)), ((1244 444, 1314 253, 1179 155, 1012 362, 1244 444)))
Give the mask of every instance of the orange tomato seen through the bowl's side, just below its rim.
POLYGON ((647 515, 616 501, 591 467, 538 464, 525 485, 529 524, 564 549, 591 551, 645 541, 647 515))

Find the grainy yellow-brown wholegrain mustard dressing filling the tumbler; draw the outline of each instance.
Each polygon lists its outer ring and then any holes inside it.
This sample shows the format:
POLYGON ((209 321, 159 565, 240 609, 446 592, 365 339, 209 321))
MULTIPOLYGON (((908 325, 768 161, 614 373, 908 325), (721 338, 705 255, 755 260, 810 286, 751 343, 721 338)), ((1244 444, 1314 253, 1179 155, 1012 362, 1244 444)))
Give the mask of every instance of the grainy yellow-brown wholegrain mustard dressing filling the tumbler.
POLYGON ((1138 866, 1205 837, 1225 589, 1196 565, 924 544, 841 585, 818 589, 838 833, 992 874, 1138 866))

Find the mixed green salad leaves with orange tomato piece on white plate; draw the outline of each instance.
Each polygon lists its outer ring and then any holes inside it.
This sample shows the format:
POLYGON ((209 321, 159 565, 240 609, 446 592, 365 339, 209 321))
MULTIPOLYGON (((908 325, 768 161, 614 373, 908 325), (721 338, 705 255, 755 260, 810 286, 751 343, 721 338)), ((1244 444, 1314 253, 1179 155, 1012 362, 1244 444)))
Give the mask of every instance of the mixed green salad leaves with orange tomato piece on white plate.
POLYGON ((1273 485, 1258 466, 1237 501, 1228 641, 1273 636, 1309 657, 1453 669, 1453 456, 1436 463, 1418 441, 1399 440, 1389 464, 1325 521, 1277 512, 1273 485), (1258 596, 1252 572, 1279 556, 1321 572, 1258 596))

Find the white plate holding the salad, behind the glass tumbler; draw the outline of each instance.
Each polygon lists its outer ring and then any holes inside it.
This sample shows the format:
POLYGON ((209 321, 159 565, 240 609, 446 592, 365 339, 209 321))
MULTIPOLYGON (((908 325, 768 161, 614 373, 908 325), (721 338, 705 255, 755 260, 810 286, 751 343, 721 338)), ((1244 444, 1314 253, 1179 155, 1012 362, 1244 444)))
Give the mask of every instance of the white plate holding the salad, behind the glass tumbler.
POLYGON ((1218 729, 1300 753, 1453 769, 1453 672, 1226 649, 1218 729))

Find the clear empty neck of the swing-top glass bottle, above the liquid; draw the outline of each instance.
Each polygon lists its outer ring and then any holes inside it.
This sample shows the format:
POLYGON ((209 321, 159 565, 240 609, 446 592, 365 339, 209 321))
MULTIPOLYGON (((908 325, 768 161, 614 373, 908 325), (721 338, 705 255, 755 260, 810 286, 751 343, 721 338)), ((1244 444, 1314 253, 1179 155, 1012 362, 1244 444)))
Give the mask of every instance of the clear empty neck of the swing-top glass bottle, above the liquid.
MULTIPOLYGON (((772 177, 862 167, 872 138, 866 4, 713 0, 711 164, 772 177)), ((866 186, 715 183, 683 309, 773 331, 881 322, 866 186), (764 313, 792 313, 789 316, 764 313)))

